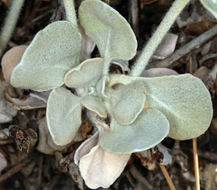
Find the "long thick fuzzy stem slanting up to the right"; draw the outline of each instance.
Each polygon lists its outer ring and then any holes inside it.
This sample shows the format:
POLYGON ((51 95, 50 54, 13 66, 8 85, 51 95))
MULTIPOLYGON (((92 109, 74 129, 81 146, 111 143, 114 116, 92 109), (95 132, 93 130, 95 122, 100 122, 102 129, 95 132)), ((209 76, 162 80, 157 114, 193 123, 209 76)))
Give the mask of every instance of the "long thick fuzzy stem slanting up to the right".
POLYGON ((166 13, 164 19, 161 21, 159 27, 143 48, 141 55, 130 72, 131 76, 139 76, 142 73, 163 37, 166 35, 175 22, 177 16, 182 12, 188 2, 190 2, 190 0, 175 0, 172 7, 166 13))

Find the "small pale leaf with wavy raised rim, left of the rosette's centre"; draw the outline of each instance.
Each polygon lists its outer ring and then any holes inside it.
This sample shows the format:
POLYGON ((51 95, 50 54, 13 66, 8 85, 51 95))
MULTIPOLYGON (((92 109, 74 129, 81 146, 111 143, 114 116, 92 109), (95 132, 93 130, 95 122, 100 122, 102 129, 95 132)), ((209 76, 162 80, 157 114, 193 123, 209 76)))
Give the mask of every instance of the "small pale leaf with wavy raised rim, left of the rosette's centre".
POLYGON ((96 84, 102 76, 103 59, 87 59, 71 69, 65 76, 64 82, 70 88, 88 87, 96 84))

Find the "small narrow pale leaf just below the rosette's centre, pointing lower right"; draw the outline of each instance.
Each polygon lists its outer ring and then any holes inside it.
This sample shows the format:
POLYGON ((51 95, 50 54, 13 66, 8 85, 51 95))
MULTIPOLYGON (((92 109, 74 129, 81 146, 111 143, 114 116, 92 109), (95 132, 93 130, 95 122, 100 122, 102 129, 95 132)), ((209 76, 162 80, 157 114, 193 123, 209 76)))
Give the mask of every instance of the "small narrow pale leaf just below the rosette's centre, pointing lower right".
POLYGON ((81 104, 87 109, 94 111, 100 117, 106 118, 107 112, 102 101, 96 96, 85 96, 81 100, 81 104))

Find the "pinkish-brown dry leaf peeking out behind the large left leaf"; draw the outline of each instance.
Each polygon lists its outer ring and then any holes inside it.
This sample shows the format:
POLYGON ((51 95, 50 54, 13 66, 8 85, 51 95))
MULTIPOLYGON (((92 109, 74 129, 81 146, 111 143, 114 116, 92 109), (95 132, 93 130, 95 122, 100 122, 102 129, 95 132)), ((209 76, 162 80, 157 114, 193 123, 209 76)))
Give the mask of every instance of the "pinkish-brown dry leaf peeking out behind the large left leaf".
POLYGON ((26 48, 26 45, 16 46, 4 54, 1 65, 6 82, 10 82, 11 72, 13 68, 20 62, 26 48))

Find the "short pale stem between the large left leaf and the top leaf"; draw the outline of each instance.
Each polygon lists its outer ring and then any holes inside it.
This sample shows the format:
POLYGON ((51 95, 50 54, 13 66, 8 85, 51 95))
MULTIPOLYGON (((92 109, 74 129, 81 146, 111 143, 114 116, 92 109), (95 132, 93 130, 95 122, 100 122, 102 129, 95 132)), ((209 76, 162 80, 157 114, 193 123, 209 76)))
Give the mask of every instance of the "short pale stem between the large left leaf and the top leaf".
POLYGON ((74 0, 63 0, 63 2, 64 2, 65 10, 66 10, 67 20, 70 21, 75 26, 77 26, 77 17, 75 13, 74 0))

